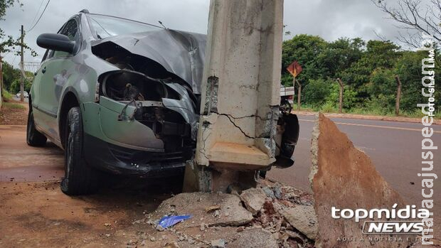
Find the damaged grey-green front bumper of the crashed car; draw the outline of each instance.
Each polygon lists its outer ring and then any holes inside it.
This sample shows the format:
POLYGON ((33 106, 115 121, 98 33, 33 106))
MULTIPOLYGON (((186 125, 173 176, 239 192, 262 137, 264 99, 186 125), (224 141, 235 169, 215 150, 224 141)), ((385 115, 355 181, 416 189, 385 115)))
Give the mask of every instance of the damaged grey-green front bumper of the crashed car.
POLYGON ((84 104, 87 163, 127 176, 182 173, 196 147, 196 113, 184 87, 167 87, 179 97, 127 101, 101 95, 84 104))

